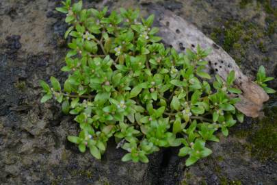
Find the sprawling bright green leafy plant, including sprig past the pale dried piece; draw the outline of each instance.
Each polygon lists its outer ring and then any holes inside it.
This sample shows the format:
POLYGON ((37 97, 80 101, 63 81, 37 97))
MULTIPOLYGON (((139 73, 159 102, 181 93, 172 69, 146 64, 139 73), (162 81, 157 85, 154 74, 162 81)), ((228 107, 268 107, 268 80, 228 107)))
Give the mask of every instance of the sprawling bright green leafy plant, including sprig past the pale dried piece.
MULTIPOLYGON (((234 71, 226 82, 218 75, 213 86, 207 82, 208 50, 198 46, 185 54, 166 48, 155 36, 158 28, 151 27, 154 16, 140 18, 138 10, 107 15, 107 8, 82 9, 82 1, 62 3, 56 10, 71 25, 62 67, 68 79, 63 88, 55 77, 51 88, 41 81, 41 102, 54 97, 64 113, 75 115, 81 131, 68 140, 81 152, 88 148, 100 159, 114 136, 128 152, 122 161, 148 162, 147 155, 160 147, 182 145, 179 156, 189 156, 191 165, 212 153, 205 143, 219 141, 217 130, 228 136, 228 127, 243 121, 234 106, 239 99, 227 95, 241 93, 233 87, 234 71)), ((258 82, 267 79, 261 73, 258 82)))

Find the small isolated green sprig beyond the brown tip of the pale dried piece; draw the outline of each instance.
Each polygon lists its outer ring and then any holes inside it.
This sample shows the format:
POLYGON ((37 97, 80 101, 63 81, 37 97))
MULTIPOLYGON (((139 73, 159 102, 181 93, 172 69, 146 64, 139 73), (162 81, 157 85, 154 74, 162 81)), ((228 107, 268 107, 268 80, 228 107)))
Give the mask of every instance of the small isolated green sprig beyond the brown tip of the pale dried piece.
POLYGON ((272 93, 276 93, 276 90, 267 87, 267 84, 265 84, 265 82, 268 82, 270 80, 274 79, 274 77, 267 77, 265 75, 265 67, 264 66, 260 66, 259 67, 259 71, 256 74, 256 84, 259 84, 259 86, 261 86, 263 88, 263 90, 265 90, 266 93, 272 94, 272 93))

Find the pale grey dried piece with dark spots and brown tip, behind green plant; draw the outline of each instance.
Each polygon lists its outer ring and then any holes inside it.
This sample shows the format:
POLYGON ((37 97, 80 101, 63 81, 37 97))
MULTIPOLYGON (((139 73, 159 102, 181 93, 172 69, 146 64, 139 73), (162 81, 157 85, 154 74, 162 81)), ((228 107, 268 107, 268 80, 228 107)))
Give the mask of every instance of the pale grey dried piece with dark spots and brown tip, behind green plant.
POLYGON ((156 14, 155 19, 159 26, 159 35, 163 38, 163 41, 168 45, 172 45, 177 51, 185 51, 187 48, 196 51, 196 45, 198 44, 204 49, 211 48, 211 54, 207 57, 209 61, 208 69, 212 69, 210 71, 214 71, 224 80, 226 80, 230 71, 235 71, 235 86, 243 92, 239 95, 241 101, 235 105, 236 108, 246 116, 259 116, 263 108, 263 102, 269 99, 267 93, 241 72, 235 60, 226 51, 216 45, 213 40, 205 36, 194 25, 180 16, 176 16, 173 12, 162 11, 161 7, 151 7, 149 11, 156 14))

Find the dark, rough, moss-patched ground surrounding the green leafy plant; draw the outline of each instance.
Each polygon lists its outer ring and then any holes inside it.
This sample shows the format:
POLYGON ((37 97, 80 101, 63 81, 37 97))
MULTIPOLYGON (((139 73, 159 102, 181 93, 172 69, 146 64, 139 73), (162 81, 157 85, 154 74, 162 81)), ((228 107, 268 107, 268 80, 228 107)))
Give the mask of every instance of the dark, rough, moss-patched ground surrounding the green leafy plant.
MULTIPOLYGON (((101 1, 84 1, 94 7, 101 1)), ((159 3, 194 23, 254 77, 263 64, 277 79, 276 1, 147 1, 108 3, 146 8, 159 3)), ((110 140, 101 161, 66 140, 77 124, 55 103, 40 104, 39 79, 61 73, 66 53, 64 15, 55 0, 0 1, 0 184, 277 184, 277 97, 263 119, 246 119, 209 143, 213 154, 192 167, 178 149, 161 149, 148 164, 121 162, 110 140)), ((277 89, 277 80, 270 83, 277 89)))

